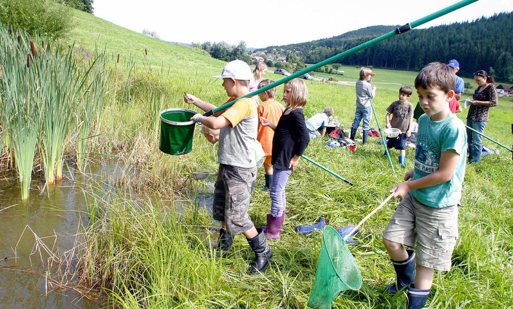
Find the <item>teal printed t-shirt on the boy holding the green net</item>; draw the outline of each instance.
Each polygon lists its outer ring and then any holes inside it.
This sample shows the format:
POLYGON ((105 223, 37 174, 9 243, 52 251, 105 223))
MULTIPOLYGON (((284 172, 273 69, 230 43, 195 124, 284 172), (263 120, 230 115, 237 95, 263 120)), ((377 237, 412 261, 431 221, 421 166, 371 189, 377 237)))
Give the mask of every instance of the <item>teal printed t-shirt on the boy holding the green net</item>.
POLYGON ((429 188, 411 190, 410 194, 430 207, 456 205, 461 198, 461 187, 465 177, 466 143, 465 126, 455 114, 441 121, 431 121, 431 117, 426 114, 420 116, 413 180, 438 171, 442 152, 452 149, 460 157, 449 181, 429 188))

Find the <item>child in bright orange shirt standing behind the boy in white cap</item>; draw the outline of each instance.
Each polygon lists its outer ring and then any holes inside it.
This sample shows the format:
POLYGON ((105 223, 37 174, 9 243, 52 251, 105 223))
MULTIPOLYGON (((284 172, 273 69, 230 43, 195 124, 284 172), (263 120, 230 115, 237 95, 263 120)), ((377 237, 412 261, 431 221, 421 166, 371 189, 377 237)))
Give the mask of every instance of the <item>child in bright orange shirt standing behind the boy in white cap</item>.
MULTIPOLYGON (((258 89, 264 88, 265 86, 271 85, 274 80, 264 79, 258 84, 258 89)), ((276 87, 271 88, 259 94, 262 104, 257 108, 258 116, 264 117, 271 121, 274 125, 278 124, 278 120, 283 114, 285 108, 278 101, 274 100, 276 94, 276 87)), ((265 187, 262 191, 268 191, 271 188, 272 182, 272 138, 274 136, 274 130, 269 127, 264 127, 259 124, 257 140, 261 143, 262 149, 264 150, 264 168, 265 168, 265 187)))

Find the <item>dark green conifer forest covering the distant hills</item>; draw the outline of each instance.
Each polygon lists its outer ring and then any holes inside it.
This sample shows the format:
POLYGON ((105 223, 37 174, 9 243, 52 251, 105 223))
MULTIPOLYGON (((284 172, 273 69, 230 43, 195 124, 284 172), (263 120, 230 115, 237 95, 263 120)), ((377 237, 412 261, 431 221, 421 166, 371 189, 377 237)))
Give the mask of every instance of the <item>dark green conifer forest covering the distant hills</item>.
MULTIPOLYGON (((383 33, 382 27, 373 36, 332 37, 301 44, 288 49, 302 50, 305 63, 314 64, 360 45, 383 33)), ((394 26, 389 26, 393 28, 394 26)), ((392 29, 388 29, 390 31, 392 29)), ((458 59, 460 75, 486 70, 499 80, 513 81, 513 12, 482 17, 473 22, 454 23, 413 29, 372 47, 342 58, 344 65, 420 70, 432 61, 458 59)))

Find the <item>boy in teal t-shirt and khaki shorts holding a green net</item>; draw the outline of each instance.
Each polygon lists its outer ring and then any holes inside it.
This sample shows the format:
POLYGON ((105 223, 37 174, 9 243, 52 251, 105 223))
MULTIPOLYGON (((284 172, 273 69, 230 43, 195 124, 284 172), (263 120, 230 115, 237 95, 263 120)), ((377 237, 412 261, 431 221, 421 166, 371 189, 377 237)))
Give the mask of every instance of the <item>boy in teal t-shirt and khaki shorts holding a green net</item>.
POLYGON ((423 308, 434 270, 449 271, 458 238, 458 202, 465 176, 466 131, 449 101, 456 78, 442 63, 430 63, 417 75, 415 88, 425 115, 419 117, 415 168, 390 192, 404 197, 392 215, 383 243, 397 282, 385 292, 407 288, 408 309, 423 308), (405 250, 403 245, 417 252, 405 250))

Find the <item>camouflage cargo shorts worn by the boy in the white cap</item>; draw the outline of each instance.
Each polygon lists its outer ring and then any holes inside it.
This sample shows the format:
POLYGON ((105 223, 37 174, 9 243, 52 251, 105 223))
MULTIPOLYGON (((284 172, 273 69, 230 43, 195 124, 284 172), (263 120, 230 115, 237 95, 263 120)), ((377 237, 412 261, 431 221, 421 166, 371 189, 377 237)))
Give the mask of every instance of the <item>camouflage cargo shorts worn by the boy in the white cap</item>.
POLYGON ((251 183, 257 167, 240 168, 219 164, 215 181, 212 217, 224 221, 226 230, 232 235, 248 231, 254 225, 248 216, 251 183))

